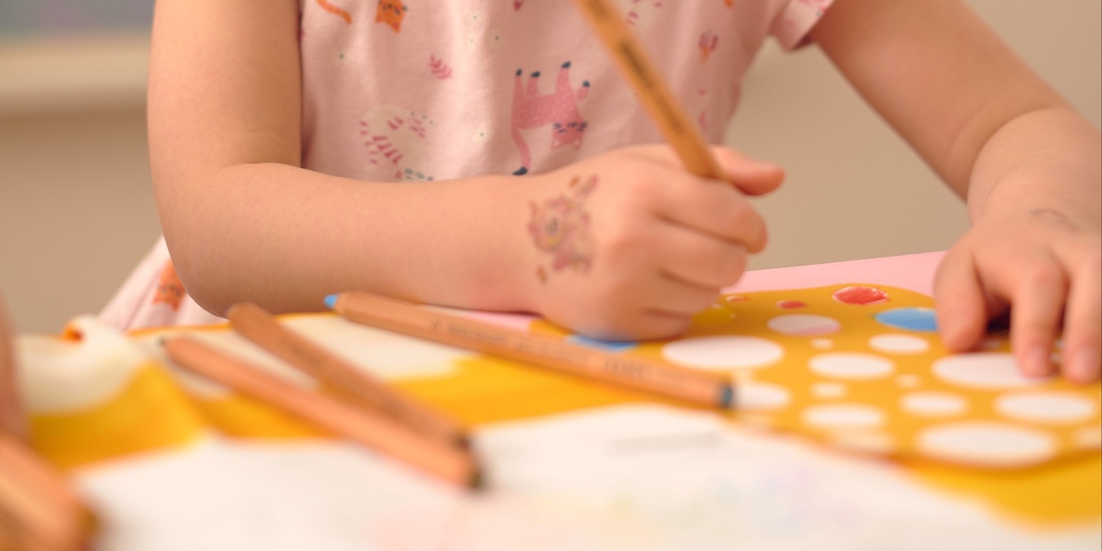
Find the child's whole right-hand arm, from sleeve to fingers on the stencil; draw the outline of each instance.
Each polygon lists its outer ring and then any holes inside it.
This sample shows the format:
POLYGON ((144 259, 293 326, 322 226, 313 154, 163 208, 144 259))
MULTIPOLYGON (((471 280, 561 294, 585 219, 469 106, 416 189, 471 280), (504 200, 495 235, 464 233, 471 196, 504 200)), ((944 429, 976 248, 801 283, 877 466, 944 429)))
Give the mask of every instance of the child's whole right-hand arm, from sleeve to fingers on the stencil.
POLYGON ((961 196, 973 226, 939 268, 947 346, 1011 310, 1025 372, 1099 377, 1102 139, 958 0, 835 0, 811 36, 961 196), (1013 305, 1013 309, 1011 306, 1013 305))

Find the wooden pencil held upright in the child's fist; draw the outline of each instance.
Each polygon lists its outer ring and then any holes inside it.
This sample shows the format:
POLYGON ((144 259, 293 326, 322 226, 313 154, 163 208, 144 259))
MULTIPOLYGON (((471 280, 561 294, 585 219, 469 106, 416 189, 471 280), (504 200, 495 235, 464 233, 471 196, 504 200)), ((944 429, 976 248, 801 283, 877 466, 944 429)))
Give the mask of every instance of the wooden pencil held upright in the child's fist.
POLYGON ((723 171, 712 156, 704 134, 696 122, 685 115, 614 2, 577 0, 577 4, 685 169, 698 176, 723 180, 723 171))

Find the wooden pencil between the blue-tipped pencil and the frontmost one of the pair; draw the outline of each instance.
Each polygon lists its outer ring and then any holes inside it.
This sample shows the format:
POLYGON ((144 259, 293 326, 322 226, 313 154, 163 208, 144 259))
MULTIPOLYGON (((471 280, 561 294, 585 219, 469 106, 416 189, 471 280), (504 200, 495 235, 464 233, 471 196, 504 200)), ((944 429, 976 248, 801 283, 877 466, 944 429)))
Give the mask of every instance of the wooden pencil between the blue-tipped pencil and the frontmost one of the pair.
POLYGON ((463 429, 451 418, 284 327, 262 307, 252 303, 237 304, 227 317, 242 336, 325 383, 346 402, 381 412, 430 439, 467 446, 463 429))

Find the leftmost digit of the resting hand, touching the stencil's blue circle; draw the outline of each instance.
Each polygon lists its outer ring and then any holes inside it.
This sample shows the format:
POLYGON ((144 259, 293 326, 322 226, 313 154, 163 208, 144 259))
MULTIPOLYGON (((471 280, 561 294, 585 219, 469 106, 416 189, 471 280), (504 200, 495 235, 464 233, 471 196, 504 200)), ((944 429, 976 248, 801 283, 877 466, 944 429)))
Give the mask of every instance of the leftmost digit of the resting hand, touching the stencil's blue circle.
POLYGON ((964 352, 980 344, 990 312, 968 252, 951 250, 941 260, 933 278, 933 296, 946 347, 964 352))

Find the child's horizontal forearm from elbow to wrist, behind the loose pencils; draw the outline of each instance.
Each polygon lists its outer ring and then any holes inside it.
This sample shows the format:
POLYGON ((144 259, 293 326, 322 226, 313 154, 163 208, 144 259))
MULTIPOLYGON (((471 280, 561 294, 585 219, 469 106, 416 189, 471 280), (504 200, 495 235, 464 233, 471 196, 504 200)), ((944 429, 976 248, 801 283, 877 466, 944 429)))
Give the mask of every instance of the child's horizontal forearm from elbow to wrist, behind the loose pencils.
POLYGON ((215 314, 252 301, 324 307, 364 289, 466 307, 525 310, 531 181, 486 176, 368 183, 284 164, 228 166, 159 190, 162 224, 188 293, 215 314))

